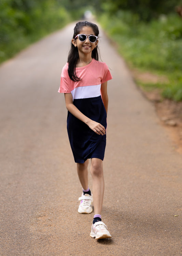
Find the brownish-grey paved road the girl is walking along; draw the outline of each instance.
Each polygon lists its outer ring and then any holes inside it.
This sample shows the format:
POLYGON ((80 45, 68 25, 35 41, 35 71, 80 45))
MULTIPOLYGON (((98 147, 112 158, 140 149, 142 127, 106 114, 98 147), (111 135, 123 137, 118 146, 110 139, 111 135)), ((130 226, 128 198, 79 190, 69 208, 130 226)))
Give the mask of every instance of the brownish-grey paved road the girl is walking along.
POLYGON ((102 219, 112 239, 91 238, 93 214, 77 212, 81 187, 57 93, 72 34, 73 24, 0 67, 0 255, 182 255, 182 155, 103 33, 113 80, 102 219))

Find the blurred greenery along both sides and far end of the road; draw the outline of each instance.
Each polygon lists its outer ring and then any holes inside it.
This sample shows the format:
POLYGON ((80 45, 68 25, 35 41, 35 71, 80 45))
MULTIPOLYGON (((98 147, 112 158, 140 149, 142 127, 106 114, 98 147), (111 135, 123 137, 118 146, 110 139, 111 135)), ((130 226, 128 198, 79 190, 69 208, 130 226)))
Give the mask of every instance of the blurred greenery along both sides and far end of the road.
POLYGON ((139 77, 140 86, 182 101, 182 0, 1 0, 0 63, 72 21, 93 18, 131 69, 155 74, 139 77))

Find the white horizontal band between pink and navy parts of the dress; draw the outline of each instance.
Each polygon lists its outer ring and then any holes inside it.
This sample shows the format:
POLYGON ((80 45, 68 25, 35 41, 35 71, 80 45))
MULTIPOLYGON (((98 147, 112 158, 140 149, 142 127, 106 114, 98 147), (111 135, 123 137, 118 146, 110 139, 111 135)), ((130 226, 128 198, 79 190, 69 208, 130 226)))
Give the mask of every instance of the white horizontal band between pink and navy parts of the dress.
POLYGON ((88 86, 80 86, 71 91, 71 94, 74 99, 84 99, 84 98, 93 98, 100 96, 100 86, 98 85, 88 85, 88 86))

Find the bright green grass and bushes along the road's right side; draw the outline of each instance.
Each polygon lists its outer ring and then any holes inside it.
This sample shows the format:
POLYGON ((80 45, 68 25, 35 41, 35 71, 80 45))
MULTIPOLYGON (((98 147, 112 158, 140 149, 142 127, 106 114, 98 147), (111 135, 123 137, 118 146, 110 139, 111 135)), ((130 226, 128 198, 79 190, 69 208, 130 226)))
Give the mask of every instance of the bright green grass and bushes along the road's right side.
POLYGON ((182 101, 182 19, 177 14, 144 23, 120 11, 112 18, 101 15, 99 22, 130 68, 167 77, 168 82, 138 82, 142 88, 159 88, 165 98, 182 101))

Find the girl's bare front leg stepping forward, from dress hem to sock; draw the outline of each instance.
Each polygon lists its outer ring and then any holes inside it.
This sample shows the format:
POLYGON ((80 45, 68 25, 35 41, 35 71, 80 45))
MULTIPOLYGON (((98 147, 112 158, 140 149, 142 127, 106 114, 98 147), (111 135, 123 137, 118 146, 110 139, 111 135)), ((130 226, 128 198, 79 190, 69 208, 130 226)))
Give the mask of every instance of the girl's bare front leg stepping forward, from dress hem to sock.
POLYGON ((104 177, 101 159, 92 158, 90 172, 93 180, 94 214, 101 214, 104 195, 104 177))

